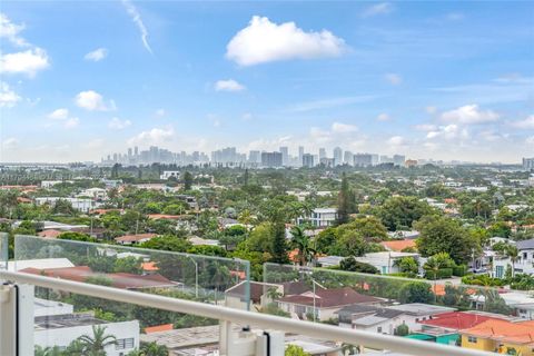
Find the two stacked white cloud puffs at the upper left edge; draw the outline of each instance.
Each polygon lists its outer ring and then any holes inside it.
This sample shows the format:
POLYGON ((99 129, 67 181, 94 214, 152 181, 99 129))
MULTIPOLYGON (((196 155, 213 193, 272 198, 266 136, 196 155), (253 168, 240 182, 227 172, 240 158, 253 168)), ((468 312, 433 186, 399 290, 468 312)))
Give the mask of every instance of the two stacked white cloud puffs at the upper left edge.
POLYGON ((20 32, 23 24, 16 24, 4 14, 0 13, 0 38, 6 38, 16 47, 31 47, 24 51, 0 53, 0 73, 27 75, 32 78, 38 71, 50 67, 50 59, 42 48, 31 46, 20 32))

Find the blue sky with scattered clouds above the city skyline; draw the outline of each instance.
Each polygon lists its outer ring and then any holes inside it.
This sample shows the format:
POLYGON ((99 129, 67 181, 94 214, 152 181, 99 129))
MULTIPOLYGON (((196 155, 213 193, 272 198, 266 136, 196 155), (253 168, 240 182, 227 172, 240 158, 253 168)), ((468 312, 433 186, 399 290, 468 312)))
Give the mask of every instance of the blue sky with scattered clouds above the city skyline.
POLYGON ((3 2, 0 161, 158 145, 517 162, 528 1, 3 2))

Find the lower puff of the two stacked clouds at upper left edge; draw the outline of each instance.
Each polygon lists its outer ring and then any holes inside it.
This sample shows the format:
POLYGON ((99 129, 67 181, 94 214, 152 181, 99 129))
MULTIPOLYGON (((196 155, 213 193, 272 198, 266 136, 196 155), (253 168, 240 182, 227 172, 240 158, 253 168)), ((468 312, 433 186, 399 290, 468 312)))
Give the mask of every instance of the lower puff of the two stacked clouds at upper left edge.
POLYGON ((0 55, 1 73, 23 73, 31 78, 49 66, 47 52, 37 47, 23 52, 0 55))

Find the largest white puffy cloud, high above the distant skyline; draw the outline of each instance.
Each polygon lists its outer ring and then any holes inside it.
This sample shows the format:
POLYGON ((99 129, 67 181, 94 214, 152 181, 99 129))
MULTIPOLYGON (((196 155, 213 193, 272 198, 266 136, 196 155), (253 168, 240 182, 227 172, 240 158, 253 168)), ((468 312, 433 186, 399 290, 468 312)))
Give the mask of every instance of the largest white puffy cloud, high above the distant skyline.
POLYGON ((277 24, 266 17, 254 16, 228 42, 226 58, 240 66, 290 60, 338 57, 345 41, 330 31, 305 32, 295 22, 277 24))

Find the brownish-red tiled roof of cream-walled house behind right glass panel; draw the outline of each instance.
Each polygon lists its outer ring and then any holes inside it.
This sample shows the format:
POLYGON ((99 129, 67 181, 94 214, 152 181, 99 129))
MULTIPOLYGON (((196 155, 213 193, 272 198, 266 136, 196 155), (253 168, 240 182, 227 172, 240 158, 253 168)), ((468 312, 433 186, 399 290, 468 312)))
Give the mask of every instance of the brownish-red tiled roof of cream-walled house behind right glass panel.
MULTIPOLYGON (((375 304, 380 301, 378 298, 359 294, 349 287, 336 289, 317 288, 315 295, 315 305, 319 308, 340 307, 352 304, 375 304)), ((313 291, 306 291, 301 295, 287 296, 278 300, 313 306, 314 294, 313 291)))

